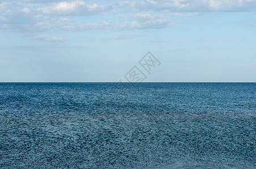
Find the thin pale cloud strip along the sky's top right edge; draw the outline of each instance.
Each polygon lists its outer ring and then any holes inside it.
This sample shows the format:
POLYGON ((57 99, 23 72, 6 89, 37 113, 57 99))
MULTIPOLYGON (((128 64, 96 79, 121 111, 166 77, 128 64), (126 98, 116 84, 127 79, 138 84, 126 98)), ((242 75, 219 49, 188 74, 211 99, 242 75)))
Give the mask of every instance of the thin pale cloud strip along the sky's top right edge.
POLYGON ((155 1, 120 1, 118 7, 135 10, 168 11, 254 11, 254 0, 155 0, 155 1))

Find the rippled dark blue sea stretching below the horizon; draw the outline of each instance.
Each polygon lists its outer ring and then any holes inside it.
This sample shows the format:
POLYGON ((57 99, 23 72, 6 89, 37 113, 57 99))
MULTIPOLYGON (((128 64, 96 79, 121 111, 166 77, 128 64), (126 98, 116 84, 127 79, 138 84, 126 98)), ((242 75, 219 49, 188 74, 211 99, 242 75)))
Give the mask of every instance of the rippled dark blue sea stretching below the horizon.
POLYGON ((256 168, 255 83, 0 83, 0 168, 256 168))

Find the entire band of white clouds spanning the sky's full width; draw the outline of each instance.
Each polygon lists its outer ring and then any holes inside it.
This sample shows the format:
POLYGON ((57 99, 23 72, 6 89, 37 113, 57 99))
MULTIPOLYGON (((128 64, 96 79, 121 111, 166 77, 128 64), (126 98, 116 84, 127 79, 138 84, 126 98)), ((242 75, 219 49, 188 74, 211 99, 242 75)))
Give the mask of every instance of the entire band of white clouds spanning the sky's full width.
POLYGON ((160 29, 172 17, 195 17, 199 12, 253 11, 253 0, 143 1, 2 0, 0 29, 20 33, 84 30, 160 29), (111 5, 112 3, 112 5, 111 5))

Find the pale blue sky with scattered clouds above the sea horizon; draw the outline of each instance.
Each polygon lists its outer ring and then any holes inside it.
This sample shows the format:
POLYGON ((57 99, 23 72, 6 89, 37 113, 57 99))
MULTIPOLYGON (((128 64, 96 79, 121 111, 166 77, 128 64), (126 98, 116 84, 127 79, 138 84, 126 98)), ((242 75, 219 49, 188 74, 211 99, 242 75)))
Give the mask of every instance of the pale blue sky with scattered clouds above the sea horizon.
POLYGON ((0 82, 129 82, 134 66, 143 82, 256 82, 256 0, 0 0, 0 82))

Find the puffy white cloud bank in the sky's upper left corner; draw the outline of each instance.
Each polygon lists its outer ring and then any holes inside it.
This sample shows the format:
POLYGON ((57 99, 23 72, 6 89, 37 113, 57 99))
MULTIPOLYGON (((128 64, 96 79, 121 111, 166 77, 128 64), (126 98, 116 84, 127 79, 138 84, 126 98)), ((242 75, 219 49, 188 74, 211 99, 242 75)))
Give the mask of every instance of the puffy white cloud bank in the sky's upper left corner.
POLYGON ((46 32, 59 30, 88 30, 99 28, 103 22, 81 23, 74 22, 69 17, 85 17, 101 15, 109 11, 109 7, 93 3, 88 5, 83 1, 27 3, 2 2, 0 3, 0 29, 21 32, 46 32), (62 17, 65 16, 65 17, 62 17), (77 29, 75 27, 77 26, 77 29))

